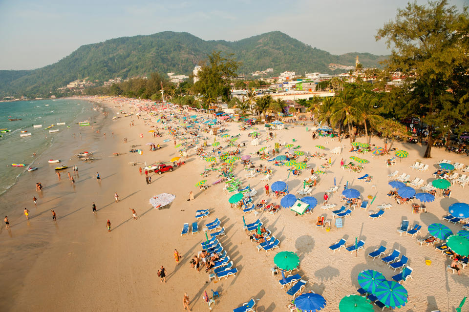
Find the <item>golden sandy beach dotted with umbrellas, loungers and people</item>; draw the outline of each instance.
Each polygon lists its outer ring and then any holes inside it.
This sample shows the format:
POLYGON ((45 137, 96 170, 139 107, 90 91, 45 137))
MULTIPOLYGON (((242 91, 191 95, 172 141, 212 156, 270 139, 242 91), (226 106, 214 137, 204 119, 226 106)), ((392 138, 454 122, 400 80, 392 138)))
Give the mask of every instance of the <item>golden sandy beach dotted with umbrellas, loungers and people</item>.
MULTIPOLYGON (((448 159, 469 165, 466 156, 433 148, 432 159, 423 159, 426 146, 395 142, 392 147, 407 150, 408 158, 397 159, 394 166, 387 167, 387 157, 372 158, 371 153, 367 153, 361 157, 370 163, 363 165, 362 172, 357 173, 343 170, 340 166, 342 158, 348 162, 350 156, 357 156, 349 152, 350 141, 339 142, 337 138, 313 140, 312 131, 306 131, 306 127, 312 126, 309 121, 305 126, 287 124, 288 129, 275 130, 275 138, 270 142, 265 142, 267 128, 260 125, 259 146, 250 144, 248 134, 251 131, 240 131, 238 123, 222 122, 221 127, 229 129, 227 133, 240 133, 237 144, 246 144, 241 148, 240 156, 255 153, 263 146, 272 150, 278 142, 282 145, 280 154, 288 151, 283 147, 285 143, 295 143, 301 146, 299 149, 302 151, 311 154, 324 152, 327 159, 331 158, 331 168, 320 175, 318 185, 312 190, 311 196, 319 204, 311 215, 295 216, 286 208, 281 208, 277 214, 259 212, 257 215, 244 215, 246 223, 259 218, 280 241, 279 248, 273 252, 257 251, 256 244, 243 230, 242 210, 230 208, 230 194, 223 191, 224 183, 212 185, 216 180, 214 173, 206 178, 201 176, 207 162, 197 157, 193 148, 185 165, 161 175, 151 173, 151 184, 147 185, 145 175, 140 174, 138 168, 143 168, 145 162, 150 165, 179 156, 172 136, 153 117, 148 119, 149 125, 145 125, 146 112, 142 112, 140 118, 116 115, 120 110, 135 111, 128 103, 98 98, 95 101, 109 113, 94 112, 92 121, 95 124, 93 128, 80 127, 81 138, 76 128, 61 133, 60 140, 52 149, 41 155, 40 169, 21 176, 14 187, 0 196, 0 205, 10 210, 8 218, 11 224, 9 230, 4 224, 0 228, 2 311, 183 311, 185 292, 191 301, 191 311, 209 311, 202 295, 204 291, 212 295, 211 290, 220 294, 216 304, 212 305, 213 311, 232 311, 251 298, 256 300, 257 312, 290 311, 287 305, 293 298, 279 285, 281 276, 273 276, 271 272, 275 254, 288 250, 299 256, 298 273, 307 281, 303 292, 311 290, 321 294, 327 300, 322 311, 338 312, 342 297, 358 294, 357 276, 362 270, 378 270, 387 279, 399 273, 380 259, 373 261, 368 257, 368 253, 380 245, 387 248, 386 255, 394 249, 400 250, 409 258, 408 266, 413 269, 412 279, 403 284, 408 291, 408 302, 396 311, 453 311, 453 307, 469 295, 468 270, 461 270, 461 275, 446 270, 449 258, 432 246, 421 247, 418 242, 418 239, 428 236, 427 227, 432 223, 443 223, 453 233, 461 230, 460 224, 448 223, 442 217, 447 215, 449 205, 467 201, 466 189, 452 185, 450 198, 442 198, 437 193, 436 200, 426 203, 426 212, 420 214, 412 213, 410 205, 398 205, 386 196, 391 190, 389 173, 398 170, 399 174, 410 174, 411 180, 419 177, 426 184, 435 179, 432 173, 439 168, 436 165, 438 161, 448 159), (113 116, 121 117, 112 120, 113 116), (129 125, 132 122, 134 125, 129 125), (150 125, 158 126, 163 136, 152 138, 148 132, 152 129, 150 125), (124 142, 125 137, 128 138, 127 143, 124 142), (164 143, 165 139, 171 140, 164 143), (145 145, 147 142, 158 143, 162 148, 150 151, 145 145), (316 145, 325 146, 325 149, 320 150, 316 145), (141 149, 143 154, 129 153, 131 146, 141 149), (330 154, 335 147, 341 147, 342 153, 330 154), (74 156, 85 150, 93 151, 96 158, 93 162, 81 162, 74 156), (113 153, 120 155, 114 156, 113 153), (71 166, 78 166, 74 185, 67 179, 67 170, 62 172, 62 181, 58 181, 53 169, 55 164, 47 164, 50 158, 62 159, 62 163, 70 166, 68 171, 71 174, 71 166), (429 165, 429 170, 412 170, 409 166, 417 160, 429 165), (130 166, 129 162, 139 164, 130 166), (96 179, 97 172, 101 181, 96 179), (357 180, 365 173, 373 177, 372 183, 357 180), (334 178, 339 190, 330 196, 329 203, 337 204, 337 208, 341 206, 341 191, 347 182, 348 187, 360 191, 362 199, 366 200, 368 196, 376 198, 366 210, 356 208, 350 217, 342 219, 342 229, 317 229, 319 216, 324 216, 331 224, 334 222, 332 209, 320 208, 325 190, 334 186, 334 178), (202 179, 207 179, 210 186, 205 191, 195 187, 202 179), (35 192, 34 184, 38 181, 44 186, 42 192, 35 192), (194 200, 187 201, 189 191, 193 191, 194 200), (119 203, 114 202, 115 192, 119 194, 119 203), (154 209, 149 199, 165 192, 175 195, 175 200, 169 208, 154 209), (32 202, 34 196, 38 198, 38 208, 32 202), (96 213, 92 212, 93 202, 98 210, 96 213), (383 218, 368 218, 371 211, 376 212, 377 206, 383 203, 393 207, 386 209, 383 218), (25 207, 31 212, 29 221, 22 214, 25 207), (133 219, 129 208, 136 210, 137 220, 133 219), (210 216, 198 220, 199 233, 181 236, 183 224, 195 222, 195 210, 201 208, 209 208, 210 216), (51 209, 57 213, 57 222, 52 220, 51 209), (189 262, 202 250, 200 243, 205 241, 204 225, 215 218, 220 219, 226 233, 226 236, 219 237, 219 241, 238 272, 227 279, 209 282, 209 274, 191 269, 189 262), (106 229, 108 219, 112 224, 110 233, 106 229), (401 236, 397 232, 401 220, 408 220, 411 226, 422 225, 421 233, 414 237, 401 236), (364 250, 360 250, 358 255, 343 249, 335 253, 328 249, 341 238, 346 239, 348 247, 355 242, 355 237, 365 242, 364 250), (179 265, 173 258, 174 249, 182 256, 179 265), (426 260, 431 260, 430 266, 426 265, 426 260), (157 276, 161 266, 168 272, 166 284, 161 283, 157 276)), ((209 143, 213 142, 212 134, 203 135, 209 137, 209 143)), ((222 142, 221 146, 226 146, 222 139, 217 137, 217 140, 222 142)), ((365 138, 359 141, 365 142, 365 138)), ((377 137, 371 139, 371 144, 384 146, 377 137)), ((317 171, 326 162, 310 157, 310 167, 302 170, 299 177, 293 177, 288 176, 286 167, 262 161, 255 154, 251 160, 273 170, 269 185, 283 180, 289 191, 299 198, 301 195, 297 191, 303 188, 302 182, 310 176, 310 169, 317 171)), ((260 181, 262 175, 246 179, 246 171, 240 161, 236 164, 234 174, 242 181, 242 186, 249 185, 257 190, 254 204, 263 199, 280 204, 280 198, 265 195, 265 182, 260 181)), ((456 172, 463 173, 460 170, 456 172)), ((379 311, 378 308, 375 310, 379 311)))

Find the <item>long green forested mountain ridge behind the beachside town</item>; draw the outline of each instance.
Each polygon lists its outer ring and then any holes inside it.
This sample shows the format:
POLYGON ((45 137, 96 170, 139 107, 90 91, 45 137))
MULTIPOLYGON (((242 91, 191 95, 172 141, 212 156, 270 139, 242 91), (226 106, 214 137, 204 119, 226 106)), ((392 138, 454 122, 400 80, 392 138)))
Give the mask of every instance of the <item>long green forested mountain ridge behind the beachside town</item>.
POLYGON ((204 41, 189 33, 165 31, 149 36, 123 37, 83 45, 54 64, 21 71, 0 71, 0 95, 47 95, 76 79, 102 83, 110 78, 146 76, 152 72, 190 74, 213 50, 234 53, 242 62, 239 73, 274 68, 298 74, 331 73, 329 63, 378 67, 383 56, 369 53, 333 55, 284 33, 270 32, 236 42, 204 41))

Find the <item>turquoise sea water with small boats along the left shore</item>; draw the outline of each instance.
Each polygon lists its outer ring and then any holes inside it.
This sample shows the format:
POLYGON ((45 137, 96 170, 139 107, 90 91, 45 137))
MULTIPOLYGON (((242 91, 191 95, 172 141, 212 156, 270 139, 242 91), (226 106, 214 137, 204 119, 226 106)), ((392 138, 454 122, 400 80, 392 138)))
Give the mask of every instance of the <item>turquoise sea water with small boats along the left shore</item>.
POLYGON ((0 194, 15 184, 21 173, 28 166, 34 166, 34 160, 54 140, 60 132, 78 132, 75 123, 91 109, 91 104, 81 100, 41 100, 0 103, 0 128, 11 132, 0 133, 0 194), (11 117, 10 117, 11 116, 11 117), (19 121, 8 121, 8 118, 21 118, 19 121), (65 123, 65 125, 57 125, 65 123), (34 128, 33 125, 43 125, 34 128), (45 129, 54 125, 50 129, 45 129), (67 128, 67 125, 70 128, 67 128), (59 129, 59 133, 49 130, 59 129), (20 137, 21 131, 27 130, 31 136, 20 137), (33 156, 36 153, 36 156, 33 156), (12 167, 11 164, 25 164, 25 167, 12 167))

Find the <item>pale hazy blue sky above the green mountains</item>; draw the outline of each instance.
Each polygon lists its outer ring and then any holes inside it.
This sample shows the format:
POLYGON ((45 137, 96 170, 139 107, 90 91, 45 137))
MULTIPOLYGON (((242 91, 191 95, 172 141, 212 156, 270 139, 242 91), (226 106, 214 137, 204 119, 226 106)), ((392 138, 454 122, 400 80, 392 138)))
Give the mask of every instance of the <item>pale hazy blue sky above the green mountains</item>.
MULTIPOLYGON (((426 1, 418 1, 426 3, 426 1)), ((449 0, 462 8, 468 0, 449 0)), ((0 0, 0 69, 32 69, 79 46, 171 30, 236 41, 279 30, 334 54, 387 54, 374 36, 407 0, 0 0)))

